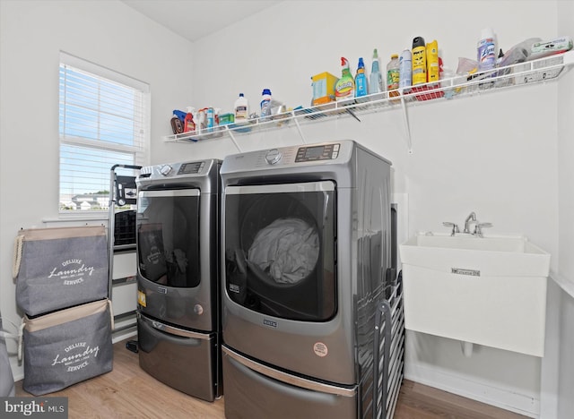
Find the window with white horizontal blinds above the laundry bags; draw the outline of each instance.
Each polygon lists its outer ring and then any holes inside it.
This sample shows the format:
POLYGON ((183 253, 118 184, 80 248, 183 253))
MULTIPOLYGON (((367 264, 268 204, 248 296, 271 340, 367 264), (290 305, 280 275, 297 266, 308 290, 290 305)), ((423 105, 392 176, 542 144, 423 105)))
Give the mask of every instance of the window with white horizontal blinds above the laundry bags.
POLYGON ((61 53, 59 96, 60 213, 108 210, 111 167, 147 161, 149 86, 61 53))

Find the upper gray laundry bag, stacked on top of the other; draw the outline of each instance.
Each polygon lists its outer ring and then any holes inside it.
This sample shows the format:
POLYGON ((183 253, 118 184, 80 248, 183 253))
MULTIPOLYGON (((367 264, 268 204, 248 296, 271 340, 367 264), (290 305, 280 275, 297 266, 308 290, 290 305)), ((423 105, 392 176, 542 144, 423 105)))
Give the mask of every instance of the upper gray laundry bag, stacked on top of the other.
POLYGON ((21 230, 14 244, 13 278, 16 302, 29 316, 107 298, 105 227, 21 230))

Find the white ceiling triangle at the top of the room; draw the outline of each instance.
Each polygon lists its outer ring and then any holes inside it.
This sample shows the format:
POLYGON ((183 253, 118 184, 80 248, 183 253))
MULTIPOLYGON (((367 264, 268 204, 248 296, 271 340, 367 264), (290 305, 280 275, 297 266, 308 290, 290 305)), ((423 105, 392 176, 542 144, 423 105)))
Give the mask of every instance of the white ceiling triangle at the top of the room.
POLYGON ((122 0, 183 38, 195 42, 280 0, 122 0))

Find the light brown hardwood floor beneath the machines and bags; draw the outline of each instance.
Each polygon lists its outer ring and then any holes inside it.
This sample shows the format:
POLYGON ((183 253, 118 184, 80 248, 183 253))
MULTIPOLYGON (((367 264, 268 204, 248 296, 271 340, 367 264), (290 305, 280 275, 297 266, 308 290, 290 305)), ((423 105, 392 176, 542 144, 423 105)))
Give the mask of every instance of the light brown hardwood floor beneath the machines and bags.
MULTIPOLYGON (((16 396, 30 396, 22 389, 22 381, 16 383, 16 396)), ((139 367, 138 355, 126 349, 126 341, 114 345, 112 372, 47 396, 67 397, 70 419, 222 419, 225 417, 224 397, 209 403, 187 396, 155 380, 139 367)), ((516 415, 507 410, 484 405, 413 381, 403 382, 395 412, 395 419, 517 419, 524 417, 526 416, 516 415)))

